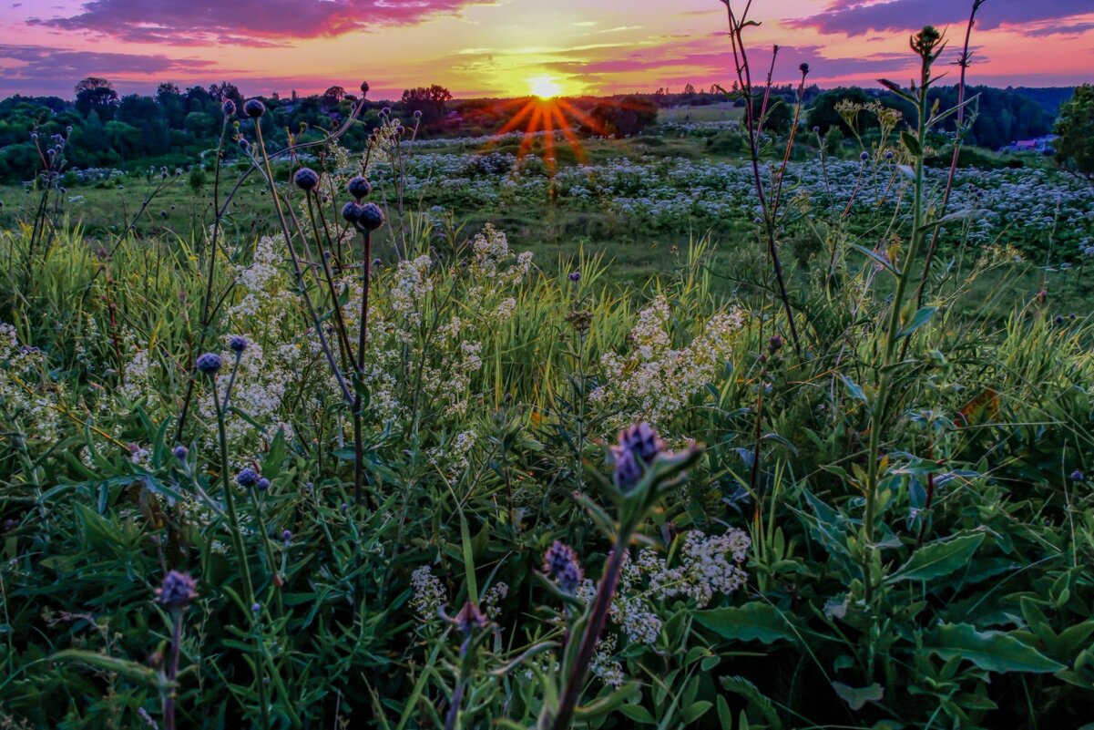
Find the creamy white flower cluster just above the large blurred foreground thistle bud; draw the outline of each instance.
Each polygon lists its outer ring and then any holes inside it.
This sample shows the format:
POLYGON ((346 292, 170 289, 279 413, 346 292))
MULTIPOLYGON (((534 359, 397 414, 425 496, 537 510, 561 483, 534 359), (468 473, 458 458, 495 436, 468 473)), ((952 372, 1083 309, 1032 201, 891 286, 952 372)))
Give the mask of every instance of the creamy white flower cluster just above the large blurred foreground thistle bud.
POLYGON ((601 358, 605 382, 590 393, 590 399, 617 412, 605 424, 606 429, 640 420, 666 426, 715 380, 732 355, 744 314, 733 310, 711 316, 690 344, 679 348, 673 347, 672 321, 667 300, 657 297, 639 313, 629 337, 630 351, 605 352, 601 358))

